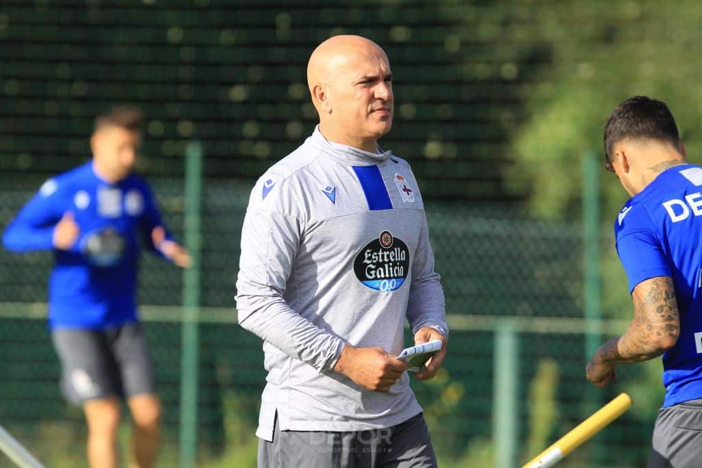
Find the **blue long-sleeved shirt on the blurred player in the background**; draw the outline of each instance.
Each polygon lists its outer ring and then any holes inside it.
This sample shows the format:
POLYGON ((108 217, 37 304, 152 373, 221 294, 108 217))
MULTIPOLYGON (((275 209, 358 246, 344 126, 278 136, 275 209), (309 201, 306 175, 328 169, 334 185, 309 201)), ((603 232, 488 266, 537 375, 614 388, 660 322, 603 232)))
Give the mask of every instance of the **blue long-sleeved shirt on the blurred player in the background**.
POLYGON ((8 225, 3 243, 15 252, 53 250, 51 328, 101 330, 137 320, 139 239, 156 251, 156 226, 164 224, 146 182, 128 175, 111 184, 86 163, 47 180, 8 225), (53 229, 67 211, 80 234, 70 250, 56 250, 53 229))

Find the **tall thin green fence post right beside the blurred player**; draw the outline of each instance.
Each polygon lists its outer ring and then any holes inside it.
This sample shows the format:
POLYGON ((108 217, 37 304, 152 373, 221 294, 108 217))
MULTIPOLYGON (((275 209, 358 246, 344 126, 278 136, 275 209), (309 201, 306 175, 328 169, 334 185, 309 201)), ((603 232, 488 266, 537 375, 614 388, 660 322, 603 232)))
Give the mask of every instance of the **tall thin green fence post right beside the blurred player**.
POLYGON ((197 347, 200 302, 200 207, 202 145, 185 149, 185 247, 192 265, 183 272, 183 349, 180 358, 180 467, 194 468, 197 458, 197 347))

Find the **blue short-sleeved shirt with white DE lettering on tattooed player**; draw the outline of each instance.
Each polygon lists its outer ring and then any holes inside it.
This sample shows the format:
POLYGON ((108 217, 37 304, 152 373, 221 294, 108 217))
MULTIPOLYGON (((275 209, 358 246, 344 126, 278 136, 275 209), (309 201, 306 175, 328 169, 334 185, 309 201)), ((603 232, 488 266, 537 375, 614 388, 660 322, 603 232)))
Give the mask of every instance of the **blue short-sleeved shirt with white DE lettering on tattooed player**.
POLYGON ((663 354, 663 406, 702 398, 702 168, 668 168, 625 203, 614 222, 629 290, 671 276, 680 337, 663 354))

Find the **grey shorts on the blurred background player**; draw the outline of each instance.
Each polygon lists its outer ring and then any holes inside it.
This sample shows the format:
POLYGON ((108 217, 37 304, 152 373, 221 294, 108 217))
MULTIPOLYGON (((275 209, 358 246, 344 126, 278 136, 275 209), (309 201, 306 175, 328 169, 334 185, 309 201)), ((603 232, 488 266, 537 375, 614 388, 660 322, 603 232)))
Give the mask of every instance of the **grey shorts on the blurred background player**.
POLYGON ((139 323, 108 330, 57 328, 51 337, 70 403, 156 392, 154 363, 139 323))

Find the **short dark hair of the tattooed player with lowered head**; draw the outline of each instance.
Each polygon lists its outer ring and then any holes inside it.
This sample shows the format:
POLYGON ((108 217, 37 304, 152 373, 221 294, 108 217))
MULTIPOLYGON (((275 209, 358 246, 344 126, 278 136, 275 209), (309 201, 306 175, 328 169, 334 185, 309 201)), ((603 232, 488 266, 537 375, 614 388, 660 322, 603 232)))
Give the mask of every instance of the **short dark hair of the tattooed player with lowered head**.
POLYGON ((625 138, 648 138, 668 142, 680 149, 680 135, 665 102, 634 96, 622 102, 604 126, 604 162, 611 169, 611 152, 616 142, 625 138))

